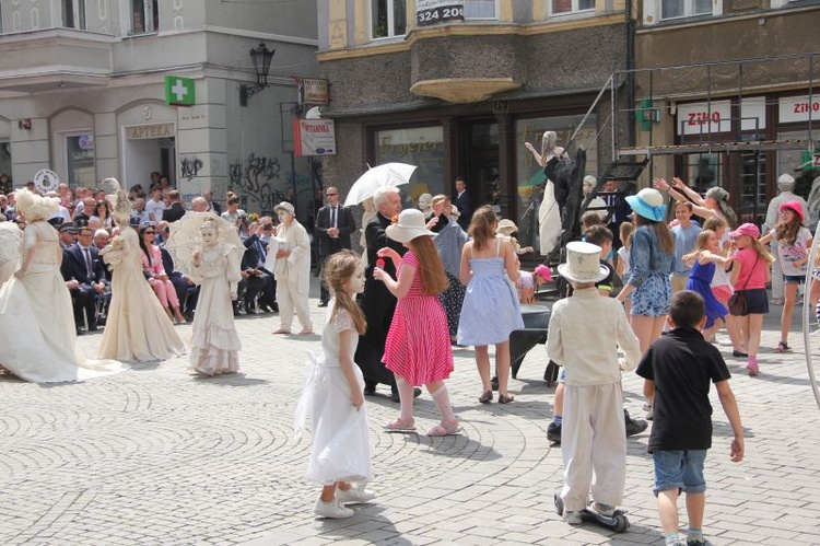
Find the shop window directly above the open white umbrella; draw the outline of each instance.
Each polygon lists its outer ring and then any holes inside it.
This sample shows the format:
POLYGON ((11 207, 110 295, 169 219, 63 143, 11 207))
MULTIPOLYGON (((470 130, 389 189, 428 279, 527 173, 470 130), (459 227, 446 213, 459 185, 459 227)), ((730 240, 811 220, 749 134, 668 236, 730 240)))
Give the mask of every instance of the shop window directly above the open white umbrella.
POLYGON ((405 207, 414 207, 421 194, 449 195, 444 181, 444 129, 441 126, 379 130, 375 140, 375 163, 409 163, 418 169, 410 184, 399 186, 405 207))

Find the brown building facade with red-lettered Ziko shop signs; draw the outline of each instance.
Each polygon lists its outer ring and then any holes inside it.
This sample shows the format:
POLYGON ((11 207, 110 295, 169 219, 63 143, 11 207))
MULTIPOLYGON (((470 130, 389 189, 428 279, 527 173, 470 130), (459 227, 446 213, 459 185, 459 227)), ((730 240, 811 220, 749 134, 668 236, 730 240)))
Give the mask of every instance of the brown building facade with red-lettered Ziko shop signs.
POLYGON ((820 175, 811 169, 820 151, 820 2, 641 8, 635 107, 655 113, 637 131, 639 148, 653 155, 649 175, 678 175, 700 191, 723 186, 741 221, 760 222, 782 173, 807 196, 820 175))

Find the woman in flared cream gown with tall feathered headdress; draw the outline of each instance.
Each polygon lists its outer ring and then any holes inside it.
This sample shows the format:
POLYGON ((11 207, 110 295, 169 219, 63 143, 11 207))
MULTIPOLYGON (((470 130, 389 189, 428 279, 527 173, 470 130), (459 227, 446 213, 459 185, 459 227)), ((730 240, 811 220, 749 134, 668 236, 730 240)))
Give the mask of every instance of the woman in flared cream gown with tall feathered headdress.
MULTIPOLYGON (((113 178, 105 182, 119 187, 113 178)), ((101 252, 112 268, 112 301, 99 357, 164 360, 183 355, 185 344, 145 279, 139 236, 129 225, 130 210, 128 196, 119 189, 113 217, 120 232, 101 252)))

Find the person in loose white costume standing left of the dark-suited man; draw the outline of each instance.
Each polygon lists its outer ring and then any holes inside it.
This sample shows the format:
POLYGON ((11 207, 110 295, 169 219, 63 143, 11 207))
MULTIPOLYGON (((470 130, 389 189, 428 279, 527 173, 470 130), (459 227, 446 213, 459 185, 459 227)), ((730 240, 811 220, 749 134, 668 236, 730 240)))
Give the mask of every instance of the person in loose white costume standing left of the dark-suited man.
POLYGON ((277 302, 281 324, 274 334, 290 334, 295 307, 301 335, 313 334, 311 311, 307 309, 307 294, 311 289, 311 240, 305 228, 296 221, 293 205, 280 202, 274 208, 279 221, 277 237, 283 239, 286 248, 277 251, 277 302))

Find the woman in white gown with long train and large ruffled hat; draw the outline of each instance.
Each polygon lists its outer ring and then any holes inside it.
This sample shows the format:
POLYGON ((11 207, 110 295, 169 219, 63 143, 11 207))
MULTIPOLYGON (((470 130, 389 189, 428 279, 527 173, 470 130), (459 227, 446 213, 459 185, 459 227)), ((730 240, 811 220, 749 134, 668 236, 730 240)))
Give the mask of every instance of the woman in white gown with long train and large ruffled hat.
POLYGON ((82 381, 127 370, 120 362, 85 360, 77 345, 71 295, 60 275, 59 235, 46 219, 59 200, 19 190, 26 219, 21 264, 0 290, 0 365, 35 383, 82 381))

